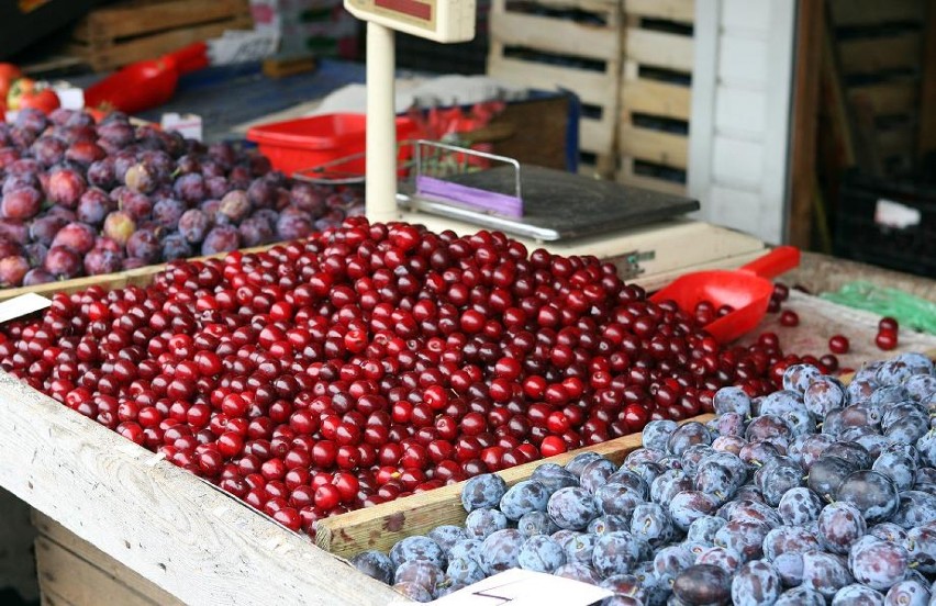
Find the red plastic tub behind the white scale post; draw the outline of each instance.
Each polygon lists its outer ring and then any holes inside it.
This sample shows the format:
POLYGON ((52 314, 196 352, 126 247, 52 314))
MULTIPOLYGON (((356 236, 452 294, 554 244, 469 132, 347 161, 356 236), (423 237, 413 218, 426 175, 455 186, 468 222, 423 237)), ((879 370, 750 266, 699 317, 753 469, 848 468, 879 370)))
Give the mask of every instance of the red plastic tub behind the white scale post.
MULTIPOLYGON (((256 143, 272 167, 287 175, 326 162, 363 154, 366 148, 365 114, 324 114, 254 126, 247 141, 256 143)), ((397 119, 397 141, 417 138, 419 127, 410 117, 397 119)), ((398 161, 411 150, 401 149, 398 161)), ((365 158, 342 162, 342 170, 365 172, 365 158)))

